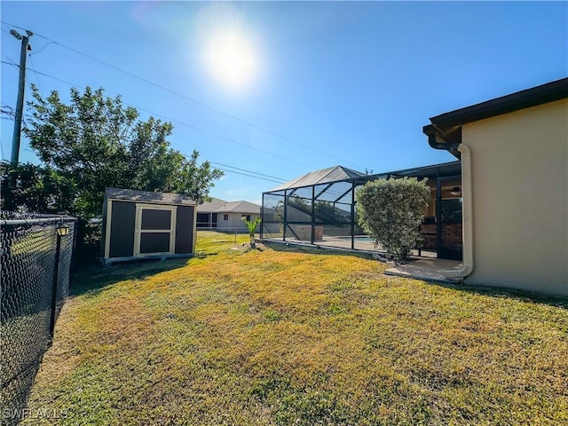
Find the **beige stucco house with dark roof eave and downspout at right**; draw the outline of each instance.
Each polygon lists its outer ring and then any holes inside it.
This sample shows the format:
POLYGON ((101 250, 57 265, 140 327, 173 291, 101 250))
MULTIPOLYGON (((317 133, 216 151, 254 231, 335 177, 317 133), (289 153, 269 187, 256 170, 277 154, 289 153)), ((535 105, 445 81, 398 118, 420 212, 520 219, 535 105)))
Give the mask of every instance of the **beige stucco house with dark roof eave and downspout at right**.
POLYGON ((468 283, 568 296, 568 78, 430 118, 461 159, 468 283))

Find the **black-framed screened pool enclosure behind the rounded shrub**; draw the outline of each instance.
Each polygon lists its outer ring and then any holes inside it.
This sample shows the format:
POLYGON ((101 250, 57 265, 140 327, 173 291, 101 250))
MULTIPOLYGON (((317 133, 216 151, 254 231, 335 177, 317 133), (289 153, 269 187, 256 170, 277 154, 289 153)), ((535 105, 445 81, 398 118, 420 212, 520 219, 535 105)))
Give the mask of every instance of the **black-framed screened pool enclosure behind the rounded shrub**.
POLYGON ((335 166, 307 173, 263 193, 260 237, 267 241, 331 248, 383 251, 358 224, 355 191, 370 180, 427 179, 431 201, 421 225, 415 256, 461 259, 461 163, 367 175, 335 166))

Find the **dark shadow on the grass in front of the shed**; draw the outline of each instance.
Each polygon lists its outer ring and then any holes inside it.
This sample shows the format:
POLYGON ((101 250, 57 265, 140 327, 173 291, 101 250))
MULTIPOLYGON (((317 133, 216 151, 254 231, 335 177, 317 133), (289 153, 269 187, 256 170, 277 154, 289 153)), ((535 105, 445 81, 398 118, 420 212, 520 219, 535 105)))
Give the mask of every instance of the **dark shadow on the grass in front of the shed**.
MULTIPOLYGON (((210 255, 202 254, 200 256, 198 254, 195 257, 205 256, 210 255)), ((156 273, 183 268, 191 259, 191 257, 184 257, 168 260, 140 260, 116 264, 110 267, 101 265, 84 267, 75 272, 75 275, 72 277, 69 296, 79 296, 87 293, 94 296, 104 288, 123 280, 146 280, 156 273)))

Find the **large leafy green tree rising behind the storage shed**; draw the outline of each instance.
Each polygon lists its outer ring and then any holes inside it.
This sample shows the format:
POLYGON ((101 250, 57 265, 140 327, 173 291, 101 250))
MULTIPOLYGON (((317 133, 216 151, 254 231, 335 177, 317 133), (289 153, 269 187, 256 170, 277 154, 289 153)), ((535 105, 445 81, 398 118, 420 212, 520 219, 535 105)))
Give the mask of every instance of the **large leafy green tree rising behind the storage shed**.
MULTIPOLYGON (((183 193, 209 200, 214 181, 223 175, 209 162, 198 163, 196 151, 185 156, 170 147, 170 122, 123 106, 120 96, 104 90, 71 89, 70 102, 57 91, 43 98, 32 86, 28 108, 33 118, 24 130, 47 170, 73 183, 76 193, 67 213, 99 217, 106 187, 183 193)), ((48 195, 48 193, 45 193, 48 195)))

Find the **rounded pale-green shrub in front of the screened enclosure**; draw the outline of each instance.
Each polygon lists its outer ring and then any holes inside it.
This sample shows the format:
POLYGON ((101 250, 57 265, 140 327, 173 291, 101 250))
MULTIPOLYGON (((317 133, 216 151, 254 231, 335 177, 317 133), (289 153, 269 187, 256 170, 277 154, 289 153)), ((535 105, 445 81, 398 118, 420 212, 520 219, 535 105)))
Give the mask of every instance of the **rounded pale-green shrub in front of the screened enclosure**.
POLYGON ((397 260, 406 260, 422 241, 420 224, 430 187, 416 177, 377 179, 356 192, 359 225, 397 260))

